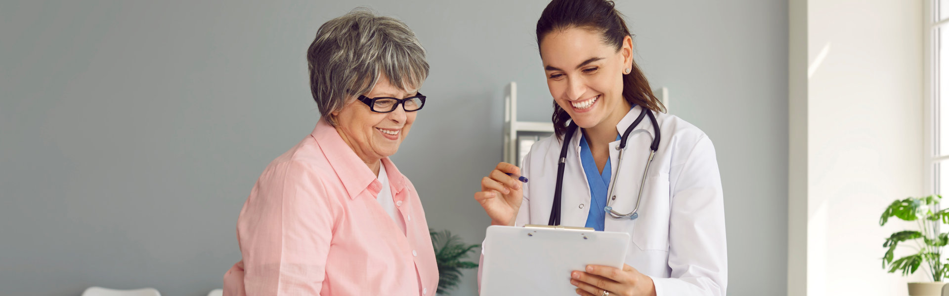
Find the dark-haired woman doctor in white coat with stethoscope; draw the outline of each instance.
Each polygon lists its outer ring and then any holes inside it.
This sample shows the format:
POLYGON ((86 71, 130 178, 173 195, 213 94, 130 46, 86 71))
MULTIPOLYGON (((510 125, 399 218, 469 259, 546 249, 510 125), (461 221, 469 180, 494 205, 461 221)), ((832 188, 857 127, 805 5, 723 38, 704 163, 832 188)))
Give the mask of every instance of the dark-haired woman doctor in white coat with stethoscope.
POLYGON ((530 148, 523 168, 502 162, 482 178, 474 199, 492 224, 628 232, 622 269, 550 279, 569 280, 579 295, 725 295, 715 148, 698 127, 661 112, 623 16, 611 1, 553 0, 537 43, 555 135, 530 148))

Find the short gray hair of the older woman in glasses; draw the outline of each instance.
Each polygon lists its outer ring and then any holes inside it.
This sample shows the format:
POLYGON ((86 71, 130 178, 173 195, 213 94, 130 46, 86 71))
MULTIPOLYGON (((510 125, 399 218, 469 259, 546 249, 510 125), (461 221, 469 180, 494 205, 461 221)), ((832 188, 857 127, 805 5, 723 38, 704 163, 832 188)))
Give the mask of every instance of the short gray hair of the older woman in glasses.
POLYGON ((380 71, 408 91, 428 77, 425 49, 415 33, 396 18, 364 8, 323 24, 307 50, 307 62, 313 100, 334 126, 332 112, 371 91, 380 71))

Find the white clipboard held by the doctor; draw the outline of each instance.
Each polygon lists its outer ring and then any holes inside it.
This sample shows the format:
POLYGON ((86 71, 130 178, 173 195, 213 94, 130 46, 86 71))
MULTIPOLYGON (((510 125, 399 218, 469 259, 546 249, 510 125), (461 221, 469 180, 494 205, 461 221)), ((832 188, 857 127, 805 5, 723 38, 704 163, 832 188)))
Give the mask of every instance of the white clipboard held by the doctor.
POLYGON ((570 272, 591 264, 623 268, 629 233, 491 226, 482 250, 481 295, 575 295, 570 272))

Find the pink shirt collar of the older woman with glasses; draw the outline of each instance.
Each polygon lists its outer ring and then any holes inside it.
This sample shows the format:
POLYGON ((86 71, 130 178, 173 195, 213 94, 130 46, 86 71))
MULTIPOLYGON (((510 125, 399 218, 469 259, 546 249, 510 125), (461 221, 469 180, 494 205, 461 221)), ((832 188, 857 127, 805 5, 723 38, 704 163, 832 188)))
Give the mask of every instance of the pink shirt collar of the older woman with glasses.
MULTIPOLYGON (((321 119, 316 123, 316 127, 310 136, 316 139, 317 144, 320 145, 326 160, 329 161, 329 165, 333 167, 333 171, 343 182, 349 198, 356 198, 366 189, 373 191, 374 194, 379 194, 381 191, 379 178, 372 174, 372 170, 369 170, 363 159, 357 156, 356 152, 346 144, 335 127, 321 119)), ((402 173, 392 163, 392 160, 389 160, 389 157, 382 158, 381 165, 385 166, 385 175, 389 177, 392 194, 399 194, 402 189, 405 189, 405 176, 402 176, 402 173)))

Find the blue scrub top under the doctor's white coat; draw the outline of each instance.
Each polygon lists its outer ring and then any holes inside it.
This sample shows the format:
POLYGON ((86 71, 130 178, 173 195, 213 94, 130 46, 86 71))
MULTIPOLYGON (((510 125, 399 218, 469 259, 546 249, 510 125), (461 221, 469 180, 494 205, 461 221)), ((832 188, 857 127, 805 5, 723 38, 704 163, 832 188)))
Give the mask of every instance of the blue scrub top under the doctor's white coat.
MULTIPOLYGON (((596 160, 593 160, 593 152, 586 142, 586 138, 580 137, 580 163, 584 166, 586 173, 586 182, 590 186, 590 213, 586 216, 586 227, 596 231, 603 231, 606 220, 606 194, 609 188, 609 178, 613 175, 610 167, 610 160, 606 158, 606 165, 603 166, 603 174, 596 167, 596 160)), ((616 140, 620 140, 620 135, 616 135, 616 140)))

